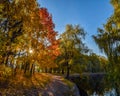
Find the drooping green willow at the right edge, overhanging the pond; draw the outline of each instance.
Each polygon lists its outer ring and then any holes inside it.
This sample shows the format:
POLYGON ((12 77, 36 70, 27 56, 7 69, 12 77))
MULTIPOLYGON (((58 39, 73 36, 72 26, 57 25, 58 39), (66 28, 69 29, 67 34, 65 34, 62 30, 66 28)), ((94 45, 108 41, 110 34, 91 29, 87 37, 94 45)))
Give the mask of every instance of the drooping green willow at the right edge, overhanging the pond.
POLYGON ((104 29, 98 29, 98 35, 93 36, 96 44, 99 46, 109 60, 108 78, 111 81, 111 87, 115 88, 117 96, 120 94, 120 1, 111 0, 114 6, 114 14, 104 25, 104 29))

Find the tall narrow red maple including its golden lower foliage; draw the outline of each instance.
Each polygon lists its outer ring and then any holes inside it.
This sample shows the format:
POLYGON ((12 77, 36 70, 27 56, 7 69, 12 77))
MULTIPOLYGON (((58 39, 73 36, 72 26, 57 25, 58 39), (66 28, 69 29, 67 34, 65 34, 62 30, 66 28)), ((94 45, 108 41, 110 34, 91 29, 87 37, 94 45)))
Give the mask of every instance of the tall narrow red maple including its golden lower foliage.
MULTIPOLYGON (((54 23, 52 21, 52 16, 48 13, 46 8, 39 9, 40 22, 42 23, 42 43, 46 50, 43 50, 41 59, 47 58, 44 67, 54 67, 54 59, 60 54, 59 52, 59 40, 56 39, 57 32, 54 31, 54 23), (51 60, 52 59, 52 60, 51 60), (51 61, 51 62, 50 62, 51 61)), ((40 61, 41 62, 41 61, 40 61)))

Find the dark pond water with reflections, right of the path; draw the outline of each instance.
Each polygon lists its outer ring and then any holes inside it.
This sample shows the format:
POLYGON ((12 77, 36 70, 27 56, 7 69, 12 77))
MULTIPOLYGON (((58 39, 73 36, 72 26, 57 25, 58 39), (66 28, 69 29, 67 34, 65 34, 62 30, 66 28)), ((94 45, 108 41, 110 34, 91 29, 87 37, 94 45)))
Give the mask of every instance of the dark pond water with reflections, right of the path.
POLYGON ((71 75, 70 79, 77 85, 80 93, 87 93, 89 96, 116 96, 115 89, 105 91, 108 83, 104 73, 71 75))

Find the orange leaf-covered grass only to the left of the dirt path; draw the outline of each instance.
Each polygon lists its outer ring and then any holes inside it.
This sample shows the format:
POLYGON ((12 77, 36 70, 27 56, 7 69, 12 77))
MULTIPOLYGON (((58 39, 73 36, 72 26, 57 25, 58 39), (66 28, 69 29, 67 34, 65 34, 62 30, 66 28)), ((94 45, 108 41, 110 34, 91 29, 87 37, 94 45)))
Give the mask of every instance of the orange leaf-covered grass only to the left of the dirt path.
MULTIPOLYGON (((0 76, 0 94, 22 96, 25 94, 38 94, 51 81, 50 76, 45 73, 35 73, 31 77, 17 74, 15 77, 0 76)), ((29 96, 29 95, 25 95, 29 96)))

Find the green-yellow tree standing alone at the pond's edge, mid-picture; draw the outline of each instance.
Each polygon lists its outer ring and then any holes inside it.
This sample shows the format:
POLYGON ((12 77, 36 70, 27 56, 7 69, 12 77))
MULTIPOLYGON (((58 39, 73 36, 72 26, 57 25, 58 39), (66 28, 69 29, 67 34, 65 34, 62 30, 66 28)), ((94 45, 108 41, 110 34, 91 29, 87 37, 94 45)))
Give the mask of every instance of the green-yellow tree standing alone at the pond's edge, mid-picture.
POLYGON ((61 34, 61 62, 66 66, 67 78, 69 78, 72 65, 74 65, 79 56, 87 50, 82 41, 84 37, 85 31, 79 27, 79 25, 66 25, 65 32, 61 34))

